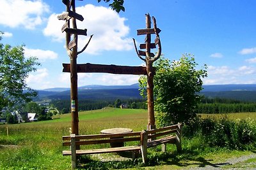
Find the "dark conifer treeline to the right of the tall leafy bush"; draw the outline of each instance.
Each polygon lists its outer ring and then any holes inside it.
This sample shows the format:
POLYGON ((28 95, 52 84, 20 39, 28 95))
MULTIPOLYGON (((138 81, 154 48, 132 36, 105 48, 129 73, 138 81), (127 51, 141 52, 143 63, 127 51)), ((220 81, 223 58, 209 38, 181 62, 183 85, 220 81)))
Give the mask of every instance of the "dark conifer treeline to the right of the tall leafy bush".
POLYGON ((196 113, 241 113, 256 112, 256 103, 243 102, 233 99, 202 99, 198 104, 196 113))

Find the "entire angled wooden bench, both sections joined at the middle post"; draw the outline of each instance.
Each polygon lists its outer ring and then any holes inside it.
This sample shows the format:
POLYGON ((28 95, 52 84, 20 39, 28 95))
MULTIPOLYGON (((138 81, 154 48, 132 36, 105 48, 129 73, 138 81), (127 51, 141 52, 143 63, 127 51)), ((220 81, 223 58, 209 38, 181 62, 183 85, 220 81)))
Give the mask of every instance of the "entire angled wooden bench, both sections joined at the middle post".
POLYGON ((132 159, 138 156, 141 152, 143 163, 147 162, 147 148, 157 145, 162 145, 162 151, 166 152, 166 144, 172 143, 177 146, 177 151, 182 150, 181 147, 181 127, 182 124, 171 125, 159 129, 142 131, 142 132, 126 132, 118 134, 91 134, 78 135, 70 134, 63 136, 63 146, 71 146, 70 150, 63 150, 63 155, 71 155, 72 168, 77 166, 76 155, 87 155, 97 153, 112 153, 112 152, 132 152, 132 159), (78 149, 81 145, 97 145, 104 143, 125 143, 128 141, 137 141, 138 145, 121 146, 115 148, 94 148, 94 149, 78 149))

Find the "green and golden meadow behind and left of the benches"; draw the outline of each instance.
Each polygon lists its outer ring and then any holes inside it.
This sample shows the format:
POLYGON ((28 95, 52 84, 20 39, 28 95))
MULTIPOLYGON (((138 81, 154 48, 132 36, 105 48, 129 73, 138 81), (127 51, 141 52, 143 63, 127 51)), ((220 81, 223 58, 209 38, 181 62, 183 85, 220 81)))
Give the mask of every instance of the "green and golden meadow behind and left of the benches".
MULTIPOLYGON (((256 119, 256 113, 202 115, 209 116, 256 119)), ((70 134, 70 122, 71 115, 65 114, 49 121, 0 125, 0 169, 70 169, 70 157, 61 154, 61 137, 70 134)), ((79 112, 79 134, 99 134, 102 129, 113 127, 147 129, 147 110, 104 108, 79 112)))

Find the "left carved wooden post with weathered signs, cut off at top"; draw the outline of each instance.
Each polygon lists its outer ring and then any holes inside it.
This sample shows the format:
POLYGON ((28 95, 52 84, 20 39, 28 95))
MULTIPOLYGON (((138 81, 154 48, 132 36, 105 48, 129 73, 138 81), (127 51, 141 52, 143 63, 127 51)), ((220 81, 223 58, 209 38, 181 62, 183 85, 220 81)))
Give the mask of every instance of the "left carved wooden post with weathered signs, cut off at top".
MULTIPOLYGON (((88 43, 84 46, 83 50, 77 52, 78 35, 86 36, 86 29, 77 29, 76 19, 83 21, 82 15, 76 13, 75 0, 62 0, 62 3, 66 5, 67 12, 58 15, 59 20, 65 20, 66 23, 61 28, 62 32, 66 32, 66 50, 70 58, 70 106, 71 106, 71 132, 72 134, 79 134, 79 119, 78 119, 78 99, 77 99, 77 55, 82 53, 90 43, 92 36, 88 43), (70 9, 72 8, 72 10, 70 9), (73 28, 70 28, 70 19, 73 28), (73 35, 73 40, 70 36, 73 35)), ((79 147, 77 147, 79 148, 79 147)))

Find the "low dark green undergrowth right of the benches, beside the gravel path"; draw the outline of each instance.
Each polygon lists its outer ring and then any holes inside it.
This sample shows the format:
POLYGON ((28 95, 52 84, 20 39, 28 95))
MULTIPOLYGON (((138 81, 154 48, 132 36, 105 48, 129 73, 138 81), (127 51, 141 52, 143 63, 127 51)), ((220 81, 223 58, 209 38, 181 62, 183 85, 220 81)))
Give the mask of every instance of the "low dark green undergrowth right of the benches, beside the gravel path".
POLYGON ((256 122, 249 119, 230 120, 228 117, 198 118, 183 128, 184 136, 202 136, 210 147, 248 149, 256 144, 256 122))

